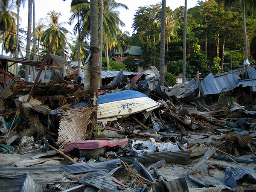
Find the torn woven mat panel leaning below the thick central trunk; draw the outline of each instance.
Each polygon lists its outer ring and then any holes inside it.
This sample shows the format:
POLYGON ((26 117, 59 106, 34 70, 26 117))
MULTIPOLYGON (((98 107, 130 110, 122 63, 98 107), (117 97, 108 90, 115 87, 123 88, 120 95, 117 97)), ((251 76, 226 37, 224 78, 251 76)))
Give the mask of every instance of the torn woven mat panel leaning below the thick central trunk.
POLYGON ((60 145, 59 148, 72 142, 85 140, 87 127, 91 123, 91 113, 90 108, 76 107, 64 114, 58 129, 58 142, 56 144, 60 145))

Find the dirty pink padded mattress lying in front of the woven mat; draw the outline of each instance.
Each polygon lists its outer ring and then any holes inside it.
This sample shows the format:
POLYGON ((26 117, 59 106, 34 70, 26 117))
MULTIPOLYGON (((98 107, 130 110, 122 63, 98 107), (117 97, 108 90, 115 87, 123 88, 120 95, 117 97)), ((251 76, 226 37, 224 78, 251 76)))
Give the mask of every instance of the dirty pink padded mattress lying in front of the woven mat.
POLYGON ((128 139, 121 140, 87 140, 87 141, 79 141, 66 145, 64 147, 64 152, 71 151, 74 148, 78 149, 96 149, 102 148, 104 146, 114 147, 114 146, 122 146, 128 143, 128 139))

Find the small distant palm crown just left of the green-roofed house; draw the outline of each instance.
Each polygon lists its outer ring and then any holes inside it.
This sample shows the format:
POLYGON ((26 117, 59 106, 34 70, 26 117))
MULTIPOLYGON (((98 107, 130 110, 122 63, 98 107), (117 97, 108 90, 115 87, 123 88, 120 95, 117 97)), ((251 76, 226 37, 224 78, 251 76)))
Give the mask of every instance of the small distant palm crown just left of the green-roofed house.
POLYGON ((120 30, 118 33, 117 33, 117 37, 116 37, 116 49, 119 51, 119 54, 121 55, 122 57, 122 54, 124 51, 126 51, 128 48, 131 47, 131 43, 130 41, 128 40, 129 38, 129 32, 128 31, 125 31, 125 32, 122 32, 122 30, 120 30))

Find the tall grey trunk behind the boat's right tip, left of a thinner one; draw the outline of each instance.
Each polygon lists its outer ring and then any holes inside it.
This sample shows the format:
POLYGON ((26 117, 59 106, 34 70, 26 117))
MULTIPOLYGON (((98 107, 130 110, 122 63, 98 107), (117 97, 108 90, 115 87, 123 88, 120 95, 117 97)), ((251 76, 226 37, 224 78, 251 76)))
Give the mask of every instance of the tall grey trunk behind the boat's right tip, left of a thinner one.
POLYGON ((166 0, 162 0, 161 41, 160 41, 160 86, 164 86, 165 28, 166 28, 166 0))

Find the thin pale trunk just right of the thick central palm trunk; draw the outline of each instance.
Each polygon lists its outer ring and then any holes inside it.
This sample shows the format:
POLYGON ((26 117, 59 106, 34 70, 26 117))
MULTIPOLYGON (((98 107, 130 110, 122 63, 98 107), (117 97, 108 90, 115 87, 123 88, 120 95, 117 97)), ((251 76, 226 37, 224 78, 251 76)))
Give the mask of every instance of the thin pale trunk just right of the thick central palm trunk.
POLYGON ((103 52, 103 9, 104 0, 100 1, 100 22, 99 22, 99 83, 102 83, 102 52, 103 52))

